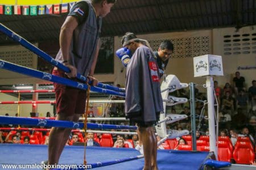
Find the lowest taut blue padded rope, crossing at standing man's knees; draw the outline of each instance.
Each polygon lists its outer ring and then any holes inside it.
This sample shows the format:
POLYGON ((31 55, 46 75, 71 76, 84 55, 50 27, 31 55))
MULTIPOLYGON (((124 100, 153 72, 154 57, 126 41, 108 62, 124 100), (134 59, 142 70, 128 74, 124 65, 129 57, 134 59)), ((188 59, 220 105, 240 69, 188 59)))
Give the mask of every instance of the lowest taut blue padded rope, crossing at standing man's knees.
MULTIPOLYGON (((60 120, 46 120, 24 117, 0 116, 0 124, 2 125, 26 125, 26 126, 49 126, 58 128, 84 128, 82 122, 60 121, 60 120)), ((108 124, 87 124, 88 129, 132 129, 136 130, 137 126, 121 126, 108 124)))

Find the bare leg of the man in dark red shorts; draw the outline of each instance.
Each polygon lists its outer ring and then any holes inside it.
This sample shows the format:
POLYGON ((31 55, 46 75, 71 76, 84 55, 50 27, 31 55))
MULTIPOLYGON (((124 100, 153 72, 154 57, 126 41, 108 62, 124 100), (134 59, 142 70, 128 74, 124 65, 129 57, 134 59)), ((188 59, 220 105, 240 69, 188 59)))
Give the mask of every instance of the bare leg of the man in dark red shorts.
MULTIPOLYGON (((56 120, 65 121, 78 121, 79 115, 74 116, 60 116, 57 115, 56 120)), ((61 152, 65 147, 68 137, 72 129, 69 128, 52 128, 49 134, 49 146, 48 146, 48 164, 57 164, 60 159, 61 152)))

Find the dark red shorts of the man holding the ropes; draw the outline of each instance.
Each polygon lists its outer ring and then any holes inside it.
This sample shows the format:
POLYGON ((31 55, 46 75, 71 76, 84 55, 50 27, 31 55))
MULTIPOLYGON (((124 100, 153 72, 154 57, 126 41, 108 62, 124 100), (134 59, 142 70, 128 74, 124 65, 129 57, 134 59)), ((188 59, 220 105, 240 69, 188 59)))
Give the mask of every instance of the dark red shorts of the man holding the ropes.
MULTIPOLYGON (((53 75, 68 78, 64 71, 56 67, 52 71, 53 75)), ((69 78, 68 78, 69 79, 69 78)), ((72 78, 79 82, 76 78, 72 78)), ((74 114, 84 114, 86 91, 79 88, 65 86, 59 83, 53 83, 56 95, 56 109, 57 113, 64 116, 72 116, 74 114)))

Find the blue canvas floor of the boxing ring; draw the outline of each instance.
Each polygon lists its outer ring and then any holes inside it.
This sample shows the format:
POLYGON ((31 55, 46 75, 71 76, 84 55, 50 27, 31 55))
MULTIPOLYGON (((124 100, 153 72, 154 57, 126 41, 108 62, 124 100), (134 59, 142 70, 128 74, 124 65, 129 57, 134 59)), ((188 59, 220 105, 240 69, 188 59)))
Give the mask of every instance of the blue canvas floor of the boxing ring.
MULTIPOLYGON (((46 145, 0 145, 0 164, 40 164, 42 160, 47 160, 46 145), (18 155, 26 156, 18 156, 18 155)), ((82 146, 65 146, 60 157, 60 164, 82 164, 82 146)), ((96 169, 143 169, 144 159, 134 158, 140 153, 134 148, 109 148, 109 147, 86 147, 86 160, 89 164, 102 164, 104 167, 96 169), (110 158, 111 156, 111 158, 110 158), (126 162, 116 163, 122 159, 129 159, 126 162), (115 163, 115 164, 112 164, 115 163), (110 165, 108 165, 110 164, 110 165)), ((200 169, 208 158, 209 152, 158 150, 159 169, 200 169)), ((0 168, 1 169, 1 168, 0 168)))

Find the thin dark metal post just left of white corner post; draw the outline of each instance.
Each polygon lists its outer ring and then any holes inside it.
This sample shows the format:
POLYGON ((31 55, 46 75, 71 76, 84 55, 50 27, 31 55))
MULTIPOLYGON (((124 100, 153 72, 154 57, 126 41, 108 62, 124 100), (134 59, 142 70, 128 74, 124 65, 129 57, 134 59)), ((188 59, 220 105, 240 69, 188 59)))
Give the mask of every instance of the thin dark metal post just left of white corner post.
POLYGON ((192 148, 193 148, 193 151, 196 151, 196 104, 195 104, 195 84, 194 83, 189 83, 189 92, 190 92, 192 148))

